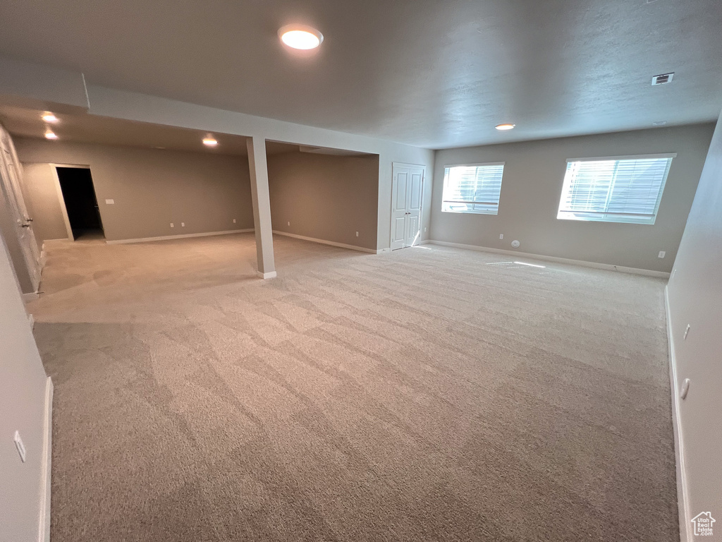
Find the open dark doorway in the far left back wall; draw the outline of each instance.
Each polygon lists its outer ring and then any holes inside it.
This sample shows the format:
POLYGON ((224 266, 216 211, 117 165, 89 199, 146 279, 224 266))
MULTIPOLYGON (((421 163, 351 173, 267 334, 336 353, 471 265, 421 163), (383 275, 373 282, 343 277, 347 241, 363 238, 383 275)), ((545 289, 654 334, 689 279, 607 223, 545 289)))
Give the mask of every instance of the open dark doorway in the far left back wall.
POLYGON ((90 168, 56 168, 73 238, 105 238, 90 168))

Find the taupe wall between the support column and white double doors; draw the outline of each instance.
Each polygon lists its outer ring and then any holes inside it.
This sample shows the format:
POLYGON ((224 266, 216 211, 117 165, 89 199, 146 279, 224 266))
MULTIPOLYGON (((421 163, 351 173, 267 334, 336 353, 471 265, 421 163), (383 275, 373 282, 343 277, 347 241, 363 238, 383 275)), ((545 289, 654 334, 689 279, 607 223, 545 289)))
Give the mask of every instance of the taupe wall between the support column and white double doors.
POLYGON ((286 152, 268 171, 275 231, 376 249, 378 156, 286 152))

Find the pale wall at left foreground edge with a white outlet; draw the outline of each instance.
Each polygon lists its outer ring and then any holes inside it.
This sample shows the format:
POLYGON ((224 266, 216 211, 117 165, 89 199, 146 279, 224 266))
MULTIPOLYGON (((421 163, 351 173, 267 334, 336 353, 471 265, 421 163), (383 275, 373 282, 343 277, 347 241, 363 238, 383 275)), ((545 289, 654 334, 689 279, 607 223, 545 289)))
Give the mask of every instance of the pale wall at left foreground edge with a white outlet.
POLYGON ((48 379, 27 321, 9 253, 0 237, 0 540, 38 541, 45 487, 48 379), (22 463, 15 431, 25 444, 22 463))

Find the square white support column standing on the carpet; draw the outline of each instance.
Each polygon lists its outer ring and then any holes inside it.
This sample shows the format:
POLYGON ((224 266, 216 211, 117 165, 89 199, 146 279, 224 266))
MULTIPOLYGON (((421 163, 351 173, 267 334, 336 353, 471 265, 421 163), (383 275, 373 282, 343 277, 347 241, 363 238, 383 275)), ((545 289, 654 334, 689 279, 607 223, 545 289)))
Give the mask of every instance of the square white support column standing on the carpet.
POLYGON ((274 278, 276 265, 273 257, 266 139, 258 136, 249 137, 246 145, 248 146, 248 168, 251 171, 251 201, 253 202, 253 225, 256 228, 258 276, 274 278))

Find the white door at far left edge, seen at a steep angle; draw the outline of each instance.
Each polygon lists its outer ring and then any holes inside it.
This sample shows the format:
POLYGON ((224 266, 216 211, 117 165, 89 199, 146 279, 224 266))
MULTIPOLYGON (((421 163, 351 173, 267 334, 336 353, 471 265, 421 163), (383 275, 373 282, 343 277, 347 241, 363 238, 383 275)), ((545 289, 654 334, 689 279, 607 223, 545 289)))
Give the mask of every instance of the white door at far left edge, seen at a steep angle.
POLYGON ((27 214, 20 188, 22 166, 8 134, 0 128, 0 188, 9 204, 12 220, 17 225, 17 239, 22 249, 32 288, 40 284, 40 254, 32 232, 32 218, 27 214))

